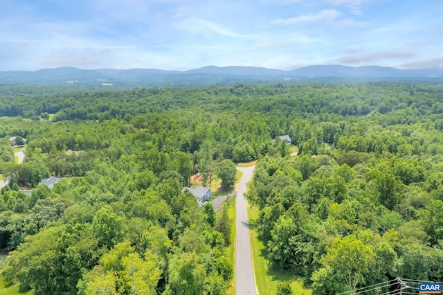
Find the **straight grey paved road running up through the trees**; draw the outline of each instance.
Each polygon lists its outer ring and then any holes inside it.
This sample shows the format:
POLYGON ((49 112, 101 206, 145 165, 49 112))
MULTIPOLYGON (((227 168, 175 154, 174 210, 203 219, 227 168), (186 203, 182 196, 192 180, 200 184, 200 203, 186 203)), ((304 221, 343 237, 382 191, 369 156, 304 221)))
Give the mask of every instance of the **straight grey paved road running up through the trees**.
POLYGON ((244 193, 246 184, 251 179, 253 167, 237 168, 243 177, 237 186, 237 222, 235 235, 235 294, 256 294, 252 265, 251 240, 249 240, 248 208, 244 193))

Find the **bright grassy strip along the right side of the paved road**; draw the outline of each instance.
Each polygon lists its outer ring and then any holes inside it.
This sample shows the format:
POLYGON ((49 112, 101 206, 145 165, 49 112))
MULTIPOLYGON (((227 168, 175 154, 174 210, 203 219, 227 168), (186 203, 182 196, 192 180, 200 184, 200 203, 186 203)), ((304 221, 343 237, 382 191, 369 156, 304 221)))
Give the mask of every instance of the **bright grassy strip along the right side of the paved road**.
POLYGON ((289 271, 282 271, 278 267, 273 267, 266 259, 266 247, 257 238, 256 222, 258 219, 258 208, 248 206, 249 233, 251 238, 251 250, 253 256, 255 284, 260 295, 271 295, 277 292, 277 285, 280 282, 289 280, 293 294, 311 295, 311 290, 305 289, 299 280, 293 277, 289 271))

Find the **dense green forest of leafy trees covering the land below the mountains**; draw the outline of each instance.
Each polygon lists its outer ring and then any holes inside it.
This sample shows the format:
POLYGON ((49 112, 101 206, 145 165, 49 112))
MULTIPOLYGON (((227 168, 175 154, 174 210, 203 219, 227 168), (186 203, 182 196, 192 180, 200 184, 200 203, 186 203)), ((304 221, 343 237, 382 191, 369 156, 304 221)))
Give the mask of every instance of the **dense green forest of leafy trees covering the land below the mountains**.
POLYGON ((3 85, 2 275, 34 294, 226 294, 226 218, 182 188, 258 160, 267 258, 313 294, 441 281, 442 130, 443 84, 3 85), (71 179, 37 186, 50 176, 71 179))

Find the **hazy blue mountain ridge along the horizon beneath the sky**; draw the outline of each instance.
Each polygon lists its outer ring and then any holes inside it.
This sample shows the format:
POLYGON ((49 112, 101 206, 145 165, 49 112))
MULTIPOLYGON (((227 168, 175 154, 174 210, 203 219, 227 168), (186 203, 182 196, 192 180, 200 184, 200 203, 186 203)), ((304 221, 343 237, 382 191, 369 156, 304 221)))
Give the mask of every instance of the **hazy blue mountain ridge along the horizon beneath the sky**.
POLYGON ((38 71, 0 71, 0 84, 158 84, 246 81, 358 81, 433 80, 443 81, 442 70, 401 70, 383 66, 312 65, 292 71, 253 66, 204 66, 188 71, 161 69, 78 69, 60 67, 38 71))

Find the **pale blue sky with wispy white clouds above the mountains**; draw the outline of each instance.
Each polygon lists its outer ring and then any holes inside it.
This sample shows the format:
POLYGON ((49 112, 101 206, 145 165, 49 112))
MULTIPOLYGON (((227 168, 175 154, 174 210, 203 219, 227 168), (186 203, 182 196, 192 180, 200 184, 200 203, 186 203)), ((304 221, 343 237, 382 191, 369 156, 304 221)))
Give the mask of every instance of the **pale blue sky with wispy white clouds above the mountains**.
POLYGON ((0 71, 443 69, 443 1, 0 0, 0 71))

